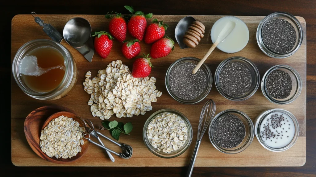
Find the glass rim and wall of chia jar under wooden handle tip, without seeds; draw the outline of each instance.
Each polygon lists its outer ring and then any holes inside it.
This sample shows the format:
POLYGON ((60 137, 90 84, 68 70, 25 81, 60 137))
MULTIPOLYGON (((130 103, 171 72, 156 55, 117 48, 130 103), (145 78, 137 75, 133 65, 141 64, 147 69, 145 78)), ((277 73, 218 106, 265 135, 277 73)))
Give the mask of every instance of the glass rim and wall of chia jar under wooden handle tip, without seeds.
MULTIPOLYGON (((174 95, 173 92, 170 90, 169 75, 170 75, 173 67, 175 67, 176 65, 178 65, 180 63, 184 63, 184 62, 191 62, 191 63, 194 63, 197 65, 200 62, 200 59, 195 58, 195 57, 184 57, 184 58, 180 58, 179 60, 173 62, 172 65, 170 65, 170 67, 167 70, 166 79, 165 79, 166 88, 167 88, 169 95, 171 97, 173 97, 173 99, 177 100, 178 102, 184 103, 184 104, 195 104, 195 103, 202 101, 210 93, 211 87, 212 87, 212 82, 213 82, 212 73, 210 71, 210 68, 205 63, 203 63, 200 69, 202 69, 206 75, 206 87, 205 87, 204 91, 197 98, 195 98, 193 100, 181 99, 181 98, 177 97, 176 95, 174 95)), ((188 72, 191 72, 191 71, 188 71, 188 72)))

